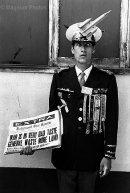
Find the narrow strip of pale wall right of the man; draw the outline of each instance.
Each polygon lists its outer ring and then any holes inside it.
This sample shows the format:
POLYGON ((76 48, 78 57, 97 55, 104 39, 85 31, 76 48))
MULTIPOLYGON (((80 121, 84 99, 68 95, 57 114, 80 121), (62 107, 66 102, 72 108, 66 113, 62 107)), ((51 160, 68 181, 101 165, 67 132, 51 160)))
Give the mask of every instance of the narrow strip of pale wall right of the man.
POLYGON ((119 89, 119 130, 115 171, 130 171, 130 75, 117 76, 119 89))

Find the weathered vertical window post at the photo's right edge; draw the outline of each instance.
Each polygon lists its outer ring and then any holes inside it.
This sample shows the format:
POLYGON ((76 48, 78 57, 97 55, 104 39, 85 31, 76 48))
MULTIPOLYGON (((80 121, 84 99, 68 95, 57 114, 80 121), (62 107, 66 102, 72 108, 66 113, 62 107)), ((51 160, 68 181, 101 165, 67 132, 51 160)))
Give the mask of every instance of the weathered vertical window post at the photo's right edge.
POLYGON ((130 2, 121 1, 120 67, 130 67, 130 2))

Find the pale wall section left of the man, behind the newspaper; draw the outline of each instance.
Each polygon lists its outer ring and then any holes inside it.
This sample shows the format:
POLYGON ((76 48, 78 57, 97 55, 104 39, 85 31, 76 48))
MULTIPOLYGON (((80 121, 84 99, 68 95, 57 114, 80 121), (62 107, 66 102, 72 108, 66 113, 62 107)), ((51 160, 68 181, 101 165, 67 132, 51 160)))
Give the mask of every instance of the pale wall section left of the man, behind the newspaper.
POLYGON ((0 73, 0 167, 51 168, 50 150, 33 156, 3 155, 11 119, 32 117, 48 111, 51 74, 0 73))

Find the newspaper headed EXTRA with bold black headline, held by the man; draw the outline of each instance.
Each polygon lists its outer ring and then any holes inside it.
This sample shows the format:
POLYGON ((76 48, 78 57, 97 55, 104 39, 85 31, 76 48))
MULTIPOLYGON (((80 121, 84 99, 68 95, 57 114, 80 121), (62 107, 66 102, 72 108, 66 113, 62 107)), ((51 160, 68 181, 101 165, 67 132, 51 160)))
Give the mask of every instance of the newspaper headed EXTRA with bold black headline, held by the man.
POLYGON ((27 119, 11 120, 4 154, 61 146, 62 115, 59 110, 27 119))

